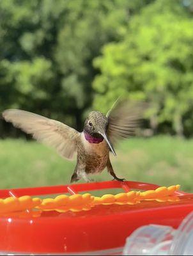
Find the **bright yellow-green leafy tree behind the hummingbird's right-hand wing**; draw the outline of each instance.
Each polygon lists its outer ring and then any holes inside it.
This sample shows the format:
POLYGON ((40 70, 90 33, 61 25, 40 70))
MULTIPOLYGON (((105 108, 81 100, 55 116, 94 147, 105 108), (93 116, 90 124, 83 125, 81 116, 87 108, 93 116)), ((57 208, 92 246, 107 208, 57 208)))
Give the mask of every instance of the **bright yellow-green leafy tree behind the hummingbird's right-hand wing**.
POLYGON ((119 95, 151 102, 152 128, 167 122, 183 134, 192 126, 193 19, 179 1, 157 0, 130 20, 123 39, 103 48, 94 65, 96 108, 119 95), (189 113, 189 115, 187 115, 189 113))

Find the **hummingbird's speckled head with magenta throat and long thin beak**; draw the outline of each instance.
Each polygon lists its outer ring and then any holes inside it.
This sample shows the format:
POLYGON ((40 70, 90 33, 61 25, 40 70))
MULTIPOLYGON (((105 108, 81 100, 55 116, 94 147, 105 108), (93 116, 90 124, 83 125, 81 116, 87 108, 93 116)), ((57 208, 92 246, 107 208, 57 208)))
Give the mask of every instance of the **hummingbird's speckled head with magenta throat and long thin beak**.
POLYGON ((111 141, 107 137, 108 118, 99 111, 91 111, 84 123, 84 136, 91 143, 99 143, 105 140, 109 145, 111 152, 116 156, 111 141), (96 139, 96 142, 92 142, 96 139), (97 142, 98 141, 98 142, 97 142))

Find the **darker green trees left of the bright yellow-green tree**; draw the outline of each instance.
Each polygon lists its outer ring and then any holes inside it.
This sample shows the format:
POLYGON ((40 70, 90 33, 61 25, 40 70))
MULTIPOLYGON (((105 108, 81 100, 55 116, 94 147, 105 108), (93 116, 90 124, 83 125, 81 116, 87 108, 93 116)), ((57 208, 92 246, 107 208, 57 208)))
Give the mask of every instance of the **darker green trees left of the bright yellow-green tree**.
POLYGON ((118 38, 128 7, 127 0, 0 1, 0 110, 22 108, 80 129, 93 99, 93 58, 118 38))

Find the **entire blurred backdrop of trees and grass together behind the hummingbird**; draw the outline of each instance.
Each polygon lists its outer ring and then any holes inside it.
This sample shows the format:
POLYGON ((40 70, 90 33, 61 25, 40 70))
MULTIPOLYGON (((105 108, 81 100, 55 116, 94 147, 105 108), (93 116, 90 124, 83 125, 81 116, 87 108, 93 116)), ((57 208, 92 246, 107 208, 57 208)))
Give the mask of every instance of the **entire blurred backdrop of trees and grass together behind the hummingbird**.
MULTIPOLYGON (((192 0, 1 0, 0 47, 0 111, 82 131, 91 109, 146 100, 141 136, 111 156, 116 174, 193 191, 192 0)), ((70 182, 75 161, 2 119, 0 138, 0 188, 70 182)))

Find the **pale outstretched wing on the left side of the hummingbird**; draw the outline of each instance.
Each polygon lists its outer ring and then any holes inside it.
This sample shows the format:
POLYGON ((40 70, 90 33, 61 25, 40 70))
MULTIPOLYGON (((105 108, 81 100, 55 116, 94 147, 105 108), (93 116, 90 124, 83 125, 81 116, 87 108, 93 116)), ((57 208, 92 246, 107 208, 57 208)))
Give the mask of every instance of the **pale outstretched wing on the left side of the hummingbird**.
POLYGON ((80 133, 68 125, 20 109, 5 110, 3 118, 22 131, 32 134, 36 140, 56 148, 63 157, 71 159, 77 150, 80 133))

